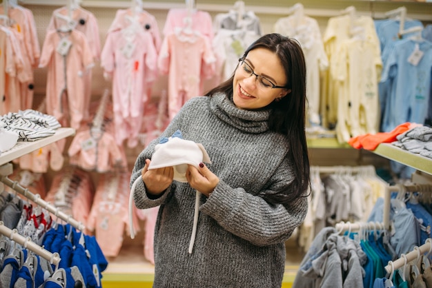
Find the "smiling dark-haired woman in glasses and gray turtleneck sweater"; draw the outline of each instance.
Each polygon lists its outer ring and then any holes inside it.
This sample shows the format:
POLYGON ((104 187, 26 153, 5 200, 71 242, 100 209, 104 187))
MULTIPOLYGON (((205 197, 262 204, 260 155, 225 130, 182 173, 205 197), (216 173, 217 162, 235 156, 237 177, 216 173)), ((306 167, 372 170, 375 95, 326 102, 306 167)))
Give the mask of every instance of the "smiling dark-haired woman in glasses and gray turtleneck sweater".
POLYGON ((135 205, 160 205, 154 287, 281 287, 285 241, 306 216, 306 67, 297 41, 266 34, 233 76, 188 101, 162 136, 202 143, 211 164, 148 169, 157 141, 138 156, 135 205), (188 254, 195 192, 200 192, 188 254))

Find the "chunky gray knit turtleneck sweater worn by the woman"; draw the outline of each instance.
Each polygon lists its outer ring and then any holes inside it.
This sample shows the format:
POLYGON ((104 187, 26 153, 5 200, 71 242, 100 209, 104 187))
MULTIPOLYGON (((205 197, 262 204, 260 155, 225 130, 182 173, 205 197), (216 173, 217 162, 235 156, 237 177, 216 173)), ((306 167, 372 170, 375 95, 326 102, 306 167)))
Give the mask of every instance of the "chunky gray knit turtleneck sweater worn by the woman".
MULTIPOLYGON (((220 181, 201 196, 197 236, 188 254, 195 189, 174 181, 160 198, 135 188, 139 209, 160 205, 155 227, 154 287, 281 287, 284 242, 306 216, 306 198, 270 205, 260 196, 293 181, 286 136, 268 131, 269 111, 239 110, 224 94, 188 101, 161 136, 180 130, 202 143, 220 181)), ((139 154, 131 185, 141 176, 153 141, 139 154)))

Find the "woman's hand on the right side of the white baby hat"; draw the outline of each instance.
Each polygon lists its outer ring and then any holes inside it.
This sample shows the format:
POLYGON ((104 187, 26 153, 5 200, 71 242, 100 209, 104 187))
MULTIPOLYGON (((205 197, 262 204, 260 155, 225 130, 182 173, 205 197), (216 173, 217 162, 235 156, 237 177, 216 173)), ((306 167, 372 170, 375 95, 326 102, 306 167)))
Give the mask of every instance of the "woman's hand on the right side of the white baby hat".
POLYGON ((199 163, 199 168, 195 168, 193 165, 188 165, 188 171, 186 171, 186 179, 190 187, 197 189, 207 197, 213 192, 219 178, 211 172, 204 163, 199 163))

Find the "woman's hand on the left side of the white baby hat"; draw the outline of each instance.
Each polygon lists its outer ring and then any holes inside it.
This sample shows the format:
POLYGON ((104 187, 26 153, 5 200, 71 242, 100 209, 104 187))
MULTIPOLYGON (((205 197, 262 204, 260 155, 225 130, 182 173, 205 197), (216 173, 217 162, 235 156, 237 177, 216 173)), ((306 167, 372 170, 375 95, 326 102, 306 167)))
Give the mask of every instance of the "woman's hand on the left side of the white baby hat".
POLYGON ((146 192, 152 195, 159 195, 168 188, 174 179, 174 168, 162 167, 157 169, 148 169, 150 159, 146 159, 146 165, 141 172, 141 178, 146 185, 146 192))

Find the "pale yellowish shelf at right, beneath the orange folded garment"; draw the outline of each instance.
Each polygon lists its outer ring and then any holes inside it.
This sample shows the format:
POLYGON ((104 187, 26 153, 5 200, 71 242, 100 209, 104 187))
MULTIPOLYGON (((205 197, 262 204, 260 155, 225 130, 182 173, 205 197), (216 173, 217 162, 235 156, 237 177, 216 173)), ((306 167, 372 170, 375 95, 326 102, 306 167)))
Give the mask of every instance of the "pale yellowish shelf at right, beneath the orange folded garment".
POLYGON ((389 143, 381 143, 373 153, 432 175, 432 158, 415 154, 389 143))

